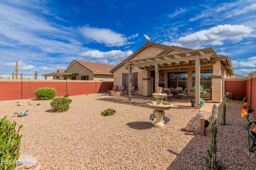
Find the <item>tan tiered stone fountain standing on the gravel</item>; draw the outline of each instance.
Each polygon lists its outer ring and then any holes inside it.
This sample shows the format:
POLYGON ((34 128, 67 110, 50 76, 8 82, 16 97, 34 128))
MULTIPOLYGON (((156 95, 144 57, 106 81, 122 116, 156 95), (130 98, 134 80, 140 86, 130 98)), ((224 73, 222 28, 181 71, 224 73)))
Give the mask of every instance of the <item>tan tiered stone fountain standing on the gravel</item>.
POLYGON ((156 121, 154 123, 155 127, 164 127, 163 117, 164 110, 168 110, 172 107, 171 103, 163 102, 163 99, 167 97, 167 94, 162 93, 162 87, 157 88, 157 93, 153 93, 152 96, 156 98, 156 101, 148 102, 148 106, 151 109, 155 109, 156 121))

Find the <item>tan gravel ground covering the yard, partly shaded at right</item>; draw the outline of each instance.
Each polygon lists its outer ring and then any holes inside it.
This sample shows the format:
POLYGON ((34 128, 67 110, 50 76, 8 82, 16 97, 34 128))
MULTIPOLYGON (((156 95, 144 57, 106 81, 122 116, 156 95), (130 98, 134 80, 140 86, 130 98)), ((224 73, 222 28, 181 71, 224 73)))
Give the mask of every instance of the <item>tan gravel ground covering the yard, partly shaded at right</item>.
MULTIPOLYGON (((0 101, 0 117, 23 125, 20 153, 35 156, 44 170, 208 170, 211 110, 204 111, 210 125, 202 137, 181 131, 198 113, 193 109, 167 110, 170 121, 156 128, 146 104, 109 102, 96 94, 69 98, 70 109, 62 113, 52 111, 51 100, 0 101), (33 105, 17 106, 21 101, 33 105), (116 113, 102 116, 108 108, 116 113), (14 114, 26 109, 27 116, 14 114)), ((218 107, 216 158, 222 169, 256 169, 256 151, 248 151, 246 119, 240 115, 243 105, 227 101, 226 126, 220 125, 222 104, 218 107)))

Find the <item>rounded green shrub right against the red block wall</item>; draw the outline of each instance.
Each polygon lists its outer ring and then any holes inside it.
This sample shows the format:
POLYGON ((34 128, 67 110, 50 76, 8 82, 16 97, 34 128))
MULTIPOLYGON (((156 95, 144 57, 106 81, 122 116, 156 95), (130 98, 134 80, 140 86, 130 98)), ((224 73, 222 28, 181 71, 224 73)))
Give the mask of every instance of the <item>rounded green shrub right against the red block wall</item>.
POLYGON ((55 88, 50 87, 38 88, 34 91, 34 93, 40 100, 50 100, 56 97, 55 88))

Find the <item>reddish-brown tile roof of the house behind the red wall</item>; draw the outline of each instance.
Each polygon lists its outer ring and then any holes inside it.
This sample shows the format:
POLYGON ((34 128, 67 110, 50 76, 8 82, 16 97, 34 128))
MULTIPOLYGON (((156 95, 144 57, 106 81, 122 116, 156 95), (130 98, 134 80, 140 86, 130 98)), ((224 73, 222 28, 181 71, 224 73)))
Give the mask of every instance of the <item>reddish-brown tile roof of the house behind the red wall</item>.
POLYGON ((110 65, 110 64, 93 63, 93 62, 80 61, 80 60, 74 60, 74 61, 82 65, 84 68, 86 68, 90 72, 94 72, 94 73, 111 74, 110 70, 115 67, 114 65, 110 65))

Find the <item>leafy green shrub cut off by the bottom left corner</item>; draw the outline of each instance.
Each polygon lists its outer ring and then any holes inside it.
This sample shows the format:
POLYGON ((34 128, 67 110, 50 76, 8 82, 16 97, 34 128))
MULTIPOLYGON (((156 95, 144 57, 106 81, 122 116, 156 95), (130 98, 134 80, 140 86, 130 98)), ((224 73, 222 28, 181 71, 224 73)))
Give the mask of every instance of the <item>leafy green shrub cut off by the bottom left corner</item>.
POLYGON ((1 170, 14 170, 16 161, 20 156, 20 128, 16 132, 16 121, 10 123, 6 120, 6 116, 0 120, 0 169, 1 170))

